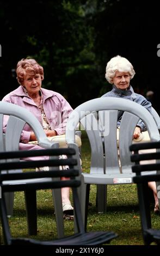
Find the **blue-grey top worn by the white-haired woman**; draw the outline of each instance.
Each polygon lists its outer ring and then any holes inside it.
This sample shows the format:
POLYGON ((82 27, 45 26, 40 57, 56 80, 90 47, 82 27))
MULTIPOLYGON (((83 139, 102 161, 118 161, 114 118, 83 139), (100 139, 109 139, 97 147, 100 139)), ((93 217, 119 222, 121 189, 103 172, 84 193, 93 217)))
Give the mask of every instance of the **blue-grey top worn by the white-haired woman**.
MULTIPOLYGON (((147 101, 144 96, 134 93, 134 90, 131 85, 127 90, 120 90, 120 89, 116 88, 116 86, 113 85, 113 89, 110 92, 104 94, 102 97, 122 97, 122 99, 132 100, 132 101, 140 104, 141 106, 144 106, 147 109, 147 111, 152 113, 151 102, 147 101)), ((120 125, 120 121, 121 121, 123 113, 124 112, 119 111, 118 126, 120 125)), ((143 123, 143 121, 141 121, 140 119, 137 123, 137 126, 140 127, 141 131, 146 131, 146 126, 143 123)))

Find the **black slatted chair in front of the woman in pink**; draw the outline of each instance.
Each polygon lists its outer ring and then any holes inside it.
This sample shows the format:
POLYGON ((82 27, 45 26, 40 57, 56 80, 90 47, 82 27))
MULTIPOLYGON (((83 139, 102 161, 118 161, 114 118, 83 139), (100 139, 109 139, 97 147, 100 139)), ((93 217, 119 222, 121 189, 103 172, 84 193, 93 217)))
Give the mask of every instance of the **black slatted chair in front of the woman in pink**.
MULTIPOLYGON (((0 199, 0 209, 2 218, 2 227, 4 234, 4 242, 7 245, 100 245, 105 242, 109 242, 117 235, 112 231, 95 231, 95 232, 85 232, 83 227, 81 206, 79 205, 79 199, 77 194, 77 187, 81 184, 81 181, 76 180, 79 175, 79 170, 75 168, 77 165, 77 160, 75 157, 75 150, 72 148, 67 149, 45 149, 45 150, 31 150, 31 151, 10 151, 5 153, 0 153, 0 159, 4 160, 0 163, 0 186, 2 190, 2 198, 0 199), (50 160, 42 161, 24 161, 19 160, 20 157, 27 156, 42 156, 50 155, 50 160), (59 155, 66 155, 67 159, 59 159, 59 155), (14 159, 14 161, 13 161, 14 159), (59 170, 59 166, 69 166, 67 170, 59 170), (48 172, 33 172, 27 171, 23 173, 16 173, 14 169, 23 168, 35 168, 50 166, 50 171, 48 172), (3 170, 13 170, 10 173, 4 173, 3 170), (61 177, 68 177, 69 180, 60 180, 61 177), (36 178, 36 182, 33 179, 36 178), (46 179, 45 182, 38 182, 37 178, 51 178, 46 179), (28 179, 30 182, 23 184, 21 180, 28 179), (5 181, 19 180, 20 183, 5 184, 5 181), (32 181, 32 182, 31 182, 32 181), (5 192, 13 191, 26 191, 30 197, 32 193, 36 190, 44 190, 48 188, 57 189, 61 187, 71 187, 73 193, 73 205, 74 205, 74 215, 77 225, 78 232, 71 236, 64 237, 62 239, 52 240, 52 241, 38 241, 30 238, 14 238, 11 236, 7 209, 5 206, 5 192)), ((40 179, 41 180, 41 179, 40 179)), ((29 197, 28 197, 29 198, 29 197)))

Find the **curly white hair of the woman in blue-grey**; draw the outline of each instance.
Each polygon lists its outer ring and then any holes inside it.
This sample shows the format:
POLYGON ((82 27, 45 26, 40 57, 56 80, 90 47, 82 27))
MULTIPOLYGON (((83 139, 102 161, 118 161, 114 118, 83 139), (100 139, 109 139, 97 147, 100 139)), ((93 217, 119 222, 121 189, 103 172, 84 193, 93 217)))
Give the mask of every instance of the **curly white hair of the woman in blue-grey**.
POLYGON ((136 74, 132 64, 126 58, 119 55, 110 59, 106 66, 105 77, 107 81, 111 84, 113 84, 113 77, 115 76, 116 71, 128 72, 131 79, 136 74))

